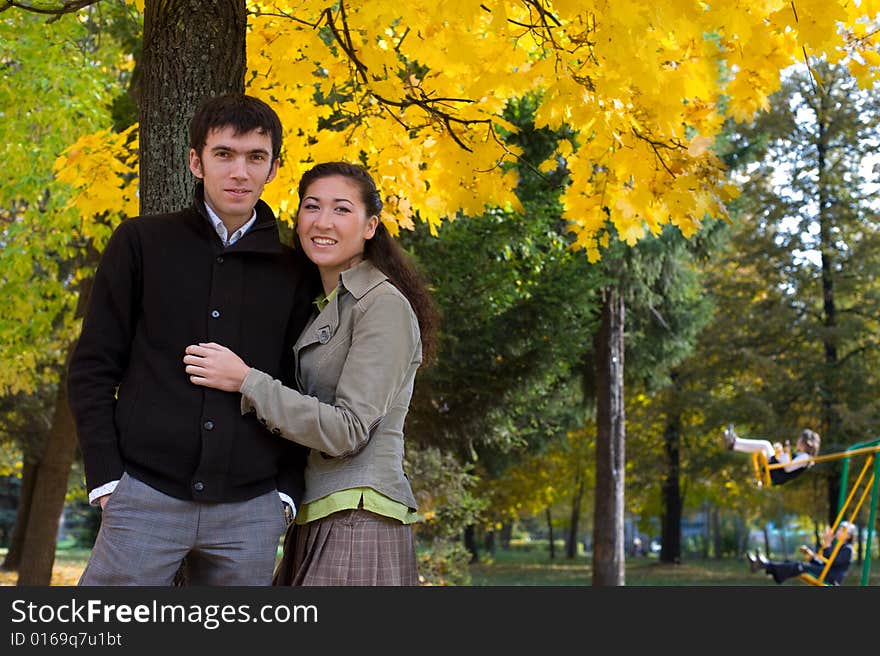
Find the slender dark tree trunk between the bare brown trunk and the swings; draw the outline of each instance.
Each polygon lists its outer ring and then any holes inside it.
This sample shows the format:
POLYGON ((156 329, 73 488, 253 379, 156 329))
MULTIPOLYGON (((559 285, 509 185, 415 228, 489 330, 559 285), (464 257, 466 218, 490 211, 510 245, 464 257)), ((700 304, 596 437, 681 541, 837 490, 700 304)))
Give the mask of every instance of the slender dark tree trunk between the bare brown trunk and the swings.
POLYGON ((675 398, 669 402, 663 429, 663 452, 666 472, 661 484, 663 514, 660 522, 660 562, 681 562, 681 413, 678 404, 679 382, 671 376, 675 398))

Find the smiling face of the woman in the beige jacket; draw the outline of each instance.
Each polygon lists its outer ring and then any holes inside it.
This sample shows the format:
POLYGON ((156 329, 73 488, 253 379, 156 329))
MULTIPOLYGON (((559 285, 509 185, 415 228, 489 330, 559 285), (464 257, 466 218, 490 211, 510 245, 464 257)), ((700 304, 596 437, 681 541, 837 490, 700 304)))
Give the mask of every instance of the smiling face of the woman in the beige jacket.
POLYGON ((376 232, 379 217, 367 216, 360 188, 342 175, 318 178, 303 194, 296 232, 303 250, 327 281, 363 259, 364 242, 376 232))

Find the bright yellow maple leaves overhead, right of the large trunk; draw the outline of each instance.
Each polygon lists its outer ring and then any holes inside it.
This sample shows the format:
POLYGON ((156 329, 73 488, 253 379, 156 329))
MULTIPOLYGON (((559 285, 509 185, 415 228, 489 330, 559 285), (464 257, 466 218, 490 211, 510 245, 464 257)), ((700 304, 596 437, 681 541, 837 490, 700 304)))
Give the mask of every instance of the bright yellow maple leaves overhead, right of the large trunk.
MULTIPOLYGON (((393 232, 432 232, 486 206, 518 207, 496 132, 514 98, 537 94, 536 125, 573 137, 547 161, 568 172, 574 247, 609 235, 687 236, 731 196, 712 146, 725 118, 768 106, 787 67, 847 58, 863 84, 880 65, 863 0, 370 0, 249 2, 249 89, 287 126, 267 200, 292 218, 312 162, 376 172, 393 232)), ((91 208, 100 206, 92 192, 91 208)))

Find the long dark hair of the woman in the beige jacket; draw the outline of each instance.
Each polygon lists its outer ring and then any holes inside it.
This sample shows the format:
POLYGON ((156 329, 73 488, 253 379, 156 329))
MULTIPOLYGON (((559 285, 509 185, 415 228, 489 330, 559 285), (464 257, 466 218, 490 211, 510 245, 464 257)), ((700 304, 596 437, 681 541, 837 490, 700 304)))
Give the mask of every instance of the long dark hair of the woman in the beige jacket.
MULTIPOLYGON (((406 296, 416 318, 422 338, 422 362, 430 363, 437 350, 437 329, 440 315, 434 298, 421 272, 409 254, 395 241, 382 222, 382 196, 370 173, 359 164, 350 162, 322 162, 303 173, 299 180, 300 204, 306 190, 315 180, 340 175, 351 180, 361 192, 367 216, 379 217, 373 236, 364 244, 364 259, 370 260, 400 292, 406 296)), ((297 209, 297 213, 299 209, 297 209)))

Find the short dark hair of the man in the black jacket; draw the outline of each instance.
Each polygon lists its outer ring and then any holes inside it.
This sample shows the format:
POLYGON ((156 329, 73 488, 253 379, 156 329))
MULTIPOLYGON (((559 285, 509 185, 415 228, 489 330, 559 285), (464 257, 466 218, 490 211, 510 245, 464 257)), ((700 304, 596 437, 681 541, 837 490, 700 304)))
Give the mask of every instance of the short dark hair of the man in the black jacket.
POLYGON ((235 134, 259 130, 272 138, 272 159, 281 156, 281 119, 259 98, 242 93, 211 96, 202 101, 189 122, 189 146, 202 156, 211 130, 232 126, 235 134))

